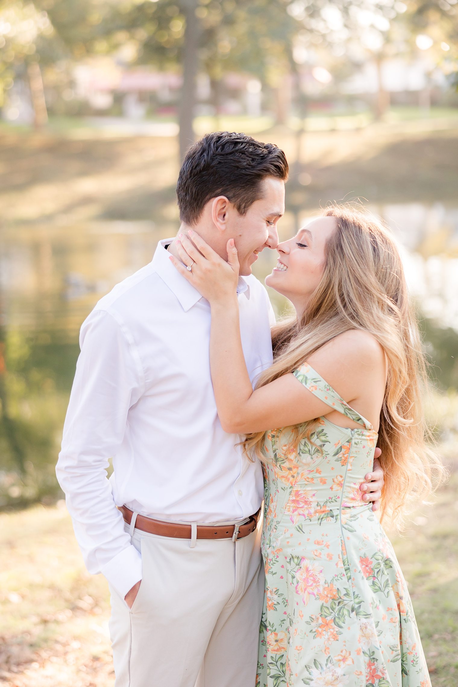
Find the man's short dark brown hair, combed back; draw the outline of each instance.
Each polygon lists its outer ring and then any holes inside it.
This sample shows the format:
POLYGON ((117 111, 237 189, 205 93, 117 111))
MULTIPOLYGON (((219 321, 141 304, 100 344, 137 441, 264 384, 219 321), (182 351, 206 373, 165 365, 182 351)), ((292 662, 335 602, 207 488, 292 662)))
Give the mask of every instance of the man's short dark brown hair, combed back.
POLYGON ((283 150, 273 143, 261 143, 244 133, 207 133, 187 150, 176 185, 180 219, 194 225, 205 203, 226 196, 238 212, 262 198, 261 182, 266 177, 288 179, 283 150))

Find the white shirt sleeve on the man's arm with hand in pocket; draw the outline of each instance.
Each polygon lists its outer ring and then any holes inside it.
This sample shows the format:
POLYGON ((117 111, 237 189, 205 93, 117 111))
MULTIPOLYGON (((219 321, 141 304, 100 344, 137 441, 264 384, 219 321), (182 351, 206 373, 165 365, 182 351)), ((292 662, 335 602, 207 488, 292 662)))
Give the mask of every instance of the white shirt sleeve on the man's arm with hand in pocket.
POLYGON ((141 556, 124 532, 106 469, 124 441, 144 375, 116 314, 95 309, 82 325, 80 348, 56 475, 87 569, 104 574, 124 598, 141 580, 141 556))

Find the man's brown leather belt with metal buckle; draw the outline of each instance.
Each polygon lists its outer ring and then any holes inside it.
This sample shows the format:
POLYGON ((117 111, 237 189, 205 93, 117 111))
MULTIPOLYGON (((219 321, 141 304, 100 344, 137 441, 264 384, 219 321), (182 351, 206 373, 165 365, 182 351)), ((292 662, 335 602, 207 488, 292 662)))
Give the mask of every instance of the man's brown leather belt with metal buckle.
MULTIPOLYGON (((126 506, 118 506, 124 520, 128 525, 132 520, 133 510, 126 506)), ((257 519, 260 516, 261 509, 254 515, 251 515, 247 522, 242 525, 198 525, 197 539, 242 539, 247 537, 251 532, 254 532, 257 526, 257 519)), ((191 525, 181 525, 176 522, 165 522, 163 520, 154 520, 146 515, 137 515, 135 520, 135 527, 143 532, 149 534, 159 534, 160 537, 176 537, 178 539, 191 539, 191 525)))

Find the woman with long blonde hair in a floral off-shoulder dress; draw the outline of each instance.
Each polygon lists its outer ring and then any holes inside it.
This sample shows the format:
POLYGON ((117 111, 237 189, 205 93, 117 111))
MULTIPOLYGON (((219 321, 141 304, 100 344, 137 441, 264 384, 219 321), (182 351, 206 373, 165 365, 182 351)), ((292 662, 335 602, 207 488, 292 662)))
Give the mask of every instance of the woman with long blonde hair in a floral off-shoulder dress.
POLYGON ((332 207, 280 243, 266 284, 296 316, 251 385, 229 262, 194 232, 175 266, 211 306, 222 427, 264 464, 266 598, 257 685, 428 687, 411 600, 359 485, 382 449, 382 514, 402 518, 439 462, 424 441, 425 367, 396 245, 363 213, 332 207))

